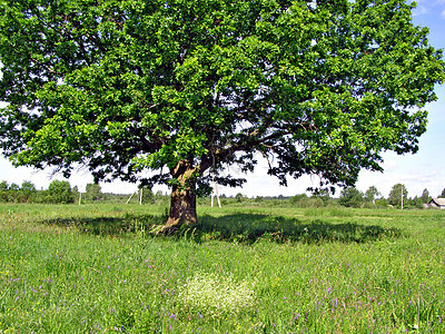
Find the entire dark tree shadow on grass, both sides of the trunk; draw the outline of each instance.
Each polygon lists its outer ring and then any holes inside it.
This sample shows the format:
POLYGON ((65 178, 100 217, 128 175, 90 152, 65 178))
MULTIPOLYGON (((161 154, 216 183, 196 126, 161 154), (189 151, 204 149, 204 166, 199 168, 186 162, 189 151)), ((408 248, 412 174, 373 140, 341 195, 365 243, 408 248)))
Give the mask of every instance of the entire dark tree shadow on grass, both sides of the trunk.
POLYGON ((185 238, 196 243, 226 240, 253 244, 260 240, 275 243, 300 242, 306 244, 367 243, 383 238, 402 236, 397 228, 358 223, 333 224, 323 219, 303 222, 297 218, 260 215, 234 214, 220 217, 202 215, 196 225, 184 225, 170 234, 150 233, 164 225, 166 217, 159 215, 125 215, 123 217, 60 218, 42 223, 57 225, 68 230, 101 236, 131 236, 141 234, 151 237, 185 238))

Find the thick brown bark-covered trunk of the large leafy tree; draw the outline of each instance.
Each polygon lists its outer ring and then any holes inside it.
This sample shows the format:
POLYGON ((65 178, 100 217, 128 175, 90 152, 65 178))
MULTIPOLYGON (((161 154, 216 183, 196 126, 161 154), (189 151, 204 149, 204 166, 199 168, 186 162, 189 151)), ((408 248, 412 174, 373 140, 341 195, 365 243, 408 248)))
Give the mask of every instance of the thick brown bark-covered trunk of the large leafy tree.
POLYGON ((170 213, 164 232, 174 232, 182 224, 196 224, 196 183, 194 179, 194 168, 181 161, 175 168, 172 176, 178 180, 178 185, 172 186, 170 213))

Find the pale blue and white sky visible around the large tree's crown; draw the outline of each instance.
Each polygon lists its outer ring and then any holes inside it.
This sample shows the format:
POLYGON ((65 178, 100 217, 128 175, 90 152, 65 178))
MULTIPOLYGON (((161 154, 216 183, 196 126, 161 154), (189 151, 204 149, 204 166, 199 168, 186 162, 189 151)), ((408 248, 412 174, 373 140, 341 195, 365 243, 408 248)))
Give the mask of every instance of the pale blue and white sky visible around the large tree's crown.
MULTIPOLYGON (((435 48, 445 49, 445 0, 419 0, 414 11, 415 24, 429 28, 429 43, 435 48)), ((436 197, 445 188, 445 86, 436 87, 437 101, 427 106, 429 111, 426 134, 419 139, 419 150, 415 155, 397 156, 384 154, 384 173, 362 171, 357 188, 365 191, 376 186, 383 196, 387 197, 393 185, 402 183, 407 187, 408 196, 419 196, 427 188, 431 196, 436 197)), ((235 195, 241 193, 253 196, 291 196, 305 193, 307 187, 317 186, 318 178, 305 176, 289 180, 288 187, 280 187, 278 179, 266 174, 265 163, 261 161, 256 171, 247 175, 247 184, 243 188, 219 187, 219 193, 235 195)), ((230 174, 237 174, 230 169, 230 174)), ((37 188, 47 188, 52 179, 63 179, 61 175, 51 176, 51 170, 37 171, 31 168, 14 168, 7 159, 0 158, 0 180, 21 184, 31 180, 37 188)), ((71 186, 85 190, 92 177, 86 171, 78 171, 69 179, 71 186)), ((101 184, 102 191, 131 193, 136 186, 121 181, 101 184)), ((155 190, 167 191, 166 187, 155 190)))

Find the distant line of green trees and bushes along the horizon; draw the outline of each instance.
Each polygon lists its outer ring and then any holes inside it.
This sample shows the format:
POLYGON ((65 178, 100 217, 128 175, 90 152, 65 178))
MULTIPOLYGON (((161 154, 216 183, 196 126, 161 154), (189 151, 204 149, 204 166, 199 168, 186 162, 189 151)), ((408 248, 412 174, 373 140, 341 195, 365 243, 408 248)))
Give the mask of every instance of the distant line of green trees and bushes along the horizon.
MULTIPOLYGON (((438 198, 445 198, 445 188, 438 198)), ((408 197, 408 190, 403 184, 393 186, 388 197, 383 197, 376 187, 369 187, 362 193, 355 187, 342 189, 339 197, 329 195, 328 190, 317 190, 312 195, 298 194, 290 197, 283 195, 248 198, 238 193, 236 196, 221 195, 222 205, 251 205, 251 206, 296 206, 296 207, 396 207, 396 208, 423 208, 429 203, 432 196, 424 189, 419 197, 408 197)), ((134 194, 102 193, 100 185, 87 184, 86 193, 80 194, 77 186, 71 187, 67 180, 52 180, 48 189, 38 190, 31 181, 23 181, 21 186, 3 180, 0 183, 0 203, 43 203, 43 204, 70 204, 70 203, 132 203, 132 204, 162 204, 167 205, 169 196, 157 191, 156 194, 146 186, 139 186, 134 194)), ((198 204, 208 205, 209 197, 198 198, 198 204)))

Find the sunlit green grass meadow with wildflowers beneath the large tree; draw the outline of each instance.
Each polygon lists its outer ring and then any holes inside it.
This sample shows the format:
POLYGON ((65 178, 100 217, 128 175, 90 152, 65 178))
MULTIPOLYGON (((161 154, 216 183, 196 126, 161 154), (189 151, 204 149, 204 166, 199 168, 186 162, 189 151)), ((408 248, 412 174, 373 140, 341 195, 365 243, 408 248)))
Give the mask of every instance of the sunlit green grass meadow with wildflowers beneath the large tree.
POLYGON ((445 333, 445 210, 0 205, 0 333, 445 333))

